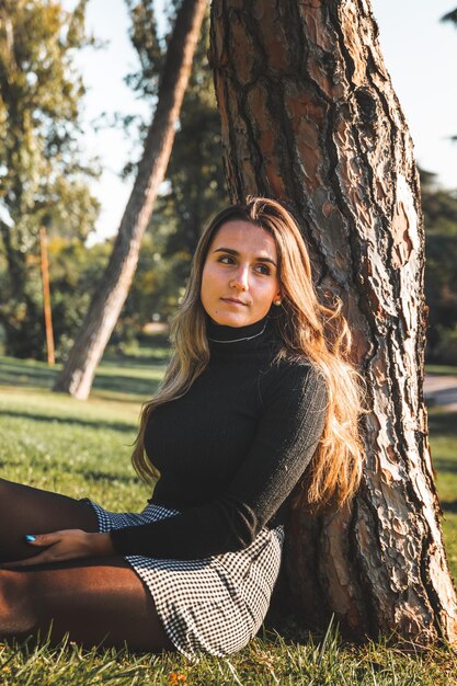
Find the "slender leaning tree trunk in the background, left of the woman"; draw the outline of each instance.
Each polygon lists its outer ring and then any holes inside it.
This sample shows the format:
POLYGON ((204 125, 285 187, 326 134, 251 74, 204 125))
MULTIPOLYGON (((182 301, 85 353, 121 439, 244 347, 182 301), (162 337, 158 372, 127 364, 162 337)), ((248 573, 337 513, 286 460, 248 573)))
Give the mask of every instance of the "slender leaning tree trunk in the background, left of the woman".
POLYGON ((106 271, 54 390, 85 400, 138 263, 145 229, 167 171, 175 125, 192 68, 205 0, 183 0, 171 36, 153 122, 106 271))

